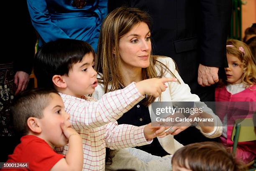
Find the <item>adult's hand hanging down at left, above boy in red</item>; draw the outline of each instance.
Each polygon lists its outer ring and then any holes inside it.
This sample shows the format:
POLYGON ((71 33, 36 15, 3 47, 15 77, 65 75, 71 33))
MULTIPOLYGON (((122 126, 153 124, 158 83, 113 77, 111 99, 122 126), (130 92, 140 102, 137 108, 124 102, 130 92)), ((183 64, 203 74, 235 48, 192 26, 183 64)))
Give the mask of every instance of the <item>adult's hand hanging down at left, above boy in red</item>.
POLYGON ((14 75, 14 84, 16 85, 17 89, 15 92, 16 94, 19 94, 23 90, 25 90, 28 86, 29 81, 29 75, 26 72, 23 71, 17 71, 14 75))

